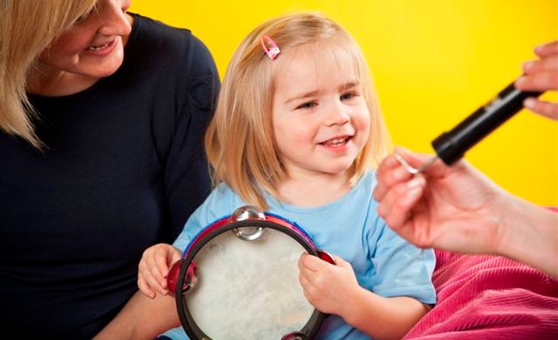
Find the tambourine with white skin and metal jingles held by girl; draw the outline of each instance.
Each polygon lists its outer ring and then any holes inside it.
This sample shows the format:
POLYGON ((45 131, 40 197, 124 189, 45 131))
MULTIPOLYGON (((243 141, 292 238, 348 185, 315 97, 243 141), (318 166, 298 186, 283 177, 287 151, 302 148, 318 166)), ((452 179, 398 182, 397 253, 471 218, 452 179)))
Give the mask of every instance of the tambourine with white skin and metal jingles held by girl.
POLYGON ((296 224, 243 206, 195 236, 167 276, 190 339, 312 339, 326 317, 298 282, 302 252, 334 263, 296 224))

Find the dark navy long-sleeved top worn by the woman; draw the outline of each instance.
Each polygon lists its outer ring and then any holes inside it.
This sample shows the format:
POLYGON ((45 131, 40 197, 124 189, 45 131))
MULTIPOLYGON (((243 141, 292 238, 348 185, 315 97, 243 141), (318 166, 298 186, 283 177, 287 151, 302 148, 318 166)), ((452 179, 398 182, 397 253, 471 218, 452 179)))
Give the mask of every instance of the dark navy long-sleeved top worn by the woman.
POLYGON ((203 134, 219 75, 190 31, 135 14, 124 61, 65 97, 30 96, 48 149, 0 131, 0 324, 89 339, 210 191, 203 134))

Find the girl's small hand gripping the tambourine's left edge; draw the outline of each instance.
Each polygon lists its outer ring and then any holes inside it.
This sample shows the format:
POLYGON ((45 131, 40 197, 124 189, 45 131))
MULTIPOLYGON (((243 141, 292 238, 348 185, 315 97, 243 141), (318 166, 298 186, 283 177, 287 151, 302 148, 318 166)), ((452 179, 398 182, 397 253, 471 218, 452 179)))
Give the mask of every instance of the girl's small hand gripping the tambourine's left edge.
POLYGON ((157 293, 167 295, 167 274, 170 267, 181 259, 181 252, 170 244, 155 244, 143 251, 138 266, 137 287, 149 298, 157 293))

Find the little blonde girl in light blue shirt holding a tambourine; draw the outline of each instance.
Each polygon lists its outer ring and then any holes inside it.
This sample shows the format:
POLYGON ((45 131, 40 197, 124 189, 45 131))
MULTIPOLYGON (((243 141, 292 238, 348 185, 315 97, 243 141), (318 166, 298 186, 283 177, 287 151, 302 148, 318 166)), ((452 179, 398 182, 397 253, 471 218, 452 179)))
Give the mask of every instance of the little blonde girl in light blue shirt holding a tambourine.
POLYGON ((400 338, 436 302, 434 254, 376 213, 371 166, 384 124, 363 55, 314 13, 271 19, 236 50, 205 138, 219 183, 174 246, 143 253, 138 285, 167 294, 168 268, 201 228, 242 205, 293 220, 337 265, 302 255, 300 284, 322 313, 317 338, 400 338))

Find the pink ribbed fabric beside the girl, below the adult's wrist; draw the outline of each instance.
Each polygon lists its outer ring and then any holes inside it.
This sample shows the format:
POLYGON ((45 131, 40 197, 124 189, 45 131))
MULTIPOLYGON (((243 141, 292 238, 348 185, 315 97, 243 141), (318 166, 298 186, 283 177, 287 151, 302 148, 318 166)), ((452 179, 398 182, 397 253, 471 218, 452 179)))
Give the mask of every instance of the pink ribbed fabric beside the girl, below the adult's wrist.
POLYGON ((551 276, 499 256, 436 251, 436 258, 438 304, 405 339, 558 339, 551 276))

